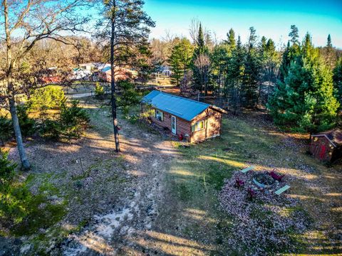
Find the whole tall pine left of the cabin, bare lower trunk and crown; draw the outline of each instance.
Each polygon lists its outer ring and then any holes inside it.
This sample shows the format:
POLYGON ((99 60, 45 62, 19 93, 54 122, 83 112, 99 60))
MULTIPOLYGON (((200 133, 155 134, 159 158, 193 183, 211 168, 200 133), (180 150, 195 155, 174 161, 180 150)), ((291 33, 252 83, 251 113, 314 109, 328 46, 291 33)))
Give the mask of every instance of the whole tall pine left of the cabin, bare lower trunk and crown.
POLYGON ((115 150, 120 151, 119 129, 117 117, 117 85, 116 67, 131 66, 141 63, 148 52, 148 35, 155 26, 145 11, 144 1, 107 0, 103 1, 101 14, 103 19, 98 23, 98 37, 108 43, 110 59, 110 104, 112 108, 115 150))

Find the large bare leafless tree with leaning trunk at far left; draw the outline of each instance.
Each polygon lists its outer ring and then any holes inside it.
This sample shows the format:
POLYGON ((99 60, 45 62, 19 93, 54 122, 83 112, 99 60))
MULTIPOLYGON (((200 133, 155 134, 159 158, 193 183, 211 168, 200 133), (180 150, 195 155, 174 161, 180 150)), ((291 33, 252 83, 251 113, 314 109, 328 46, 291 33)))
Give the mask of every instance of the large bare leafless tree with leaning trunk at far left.
POLYGON ((4 90, 0 102, 9 105, 14 134, 24 169, 30 168, 21 137, 21 129, 16 113, 16 95, 22 93, 23 85, 16 80, 26 55, 38 41, 51 38, 65 42, 61 33, 80 31, 87 21, 75 11, 86 6, 84 0, 2 0, 0 9, 0 42, 4 59, 0 62, 0 74, 4 90))

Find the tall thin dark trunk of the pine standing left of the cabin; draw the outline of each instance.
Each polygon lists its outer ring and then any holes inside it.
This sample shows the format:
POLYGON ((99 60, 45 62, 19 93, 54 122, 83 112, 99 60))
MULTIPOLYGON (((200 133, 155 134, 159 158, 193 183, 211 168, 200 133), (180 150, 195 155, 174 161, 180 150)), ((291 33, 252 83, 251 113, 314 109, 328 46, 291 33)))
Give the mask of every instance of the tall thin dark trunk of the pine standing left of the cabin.
MULTIPOLYGON (((115 8, 114 8, 115 10, 115 8)), ((111 105, 112 105, 112 116, 113 116, 113 127, 114 127, 114 139, 115 139, 115 151, 120 151, 119 143, 119 129, 118 129, 118 117, 116 113, 116 95, 115 95, 115 66, 114 66, 114 39, 115 39, 115 11, 112 16, 112 28, 110 34, 110 89, 111 89, 111 105)))

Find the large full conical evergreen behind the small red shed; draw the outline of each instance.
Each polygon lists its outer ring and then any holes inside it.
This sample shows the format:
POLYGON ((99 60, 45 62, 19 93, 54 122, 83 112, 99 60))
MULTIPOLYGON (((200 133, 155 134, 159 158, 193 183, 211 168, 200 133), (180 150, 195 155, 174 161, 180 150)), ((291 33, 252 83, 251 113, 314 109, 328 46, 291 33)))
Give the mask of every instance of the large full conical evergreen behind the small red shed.
POLYGON ((299 55, 291 61, 284 82, 279 82, 269 101, 276 124, 300 132, 316 132, 332 127, 338 109, 333 96, 332 73, 306 34, 299 55))

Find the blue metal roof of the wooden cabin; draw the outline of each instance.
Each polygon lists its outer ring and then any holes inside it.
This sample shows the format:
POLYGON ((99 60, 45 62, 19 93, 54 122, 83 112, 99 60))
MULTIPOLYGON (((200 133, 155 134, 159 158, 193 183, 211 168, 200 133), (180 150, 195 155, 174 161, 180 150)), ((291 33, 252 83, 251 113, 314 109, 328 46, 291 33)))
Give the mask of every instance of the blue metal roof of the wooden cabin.
POLYGON ((168 112, 187 121, 191 121, 198 114, 210 107, 209 104, 197 102, 185 97, 170 95, 165 92, 153 90, 142 98, 142 102, 151 104, 159 110, 168 112))

